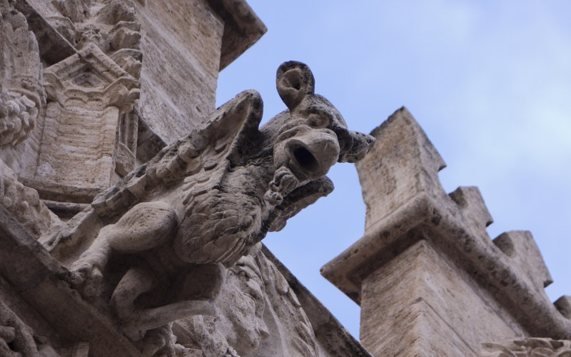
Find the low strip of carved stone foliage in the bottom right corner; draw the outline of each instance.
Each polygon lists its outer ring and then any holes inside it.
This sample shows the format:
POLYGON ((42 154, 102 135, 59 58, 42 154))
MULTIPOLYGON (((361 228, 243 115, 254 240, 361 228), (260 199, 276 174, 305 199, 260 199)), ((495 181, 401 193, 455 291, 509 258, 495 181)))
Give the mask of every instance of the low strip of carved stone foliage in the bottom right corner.
POLYGON ((571 341, 551 338, 519 338, 505 343, 485 343, 485 357, 569 357, 571 341))

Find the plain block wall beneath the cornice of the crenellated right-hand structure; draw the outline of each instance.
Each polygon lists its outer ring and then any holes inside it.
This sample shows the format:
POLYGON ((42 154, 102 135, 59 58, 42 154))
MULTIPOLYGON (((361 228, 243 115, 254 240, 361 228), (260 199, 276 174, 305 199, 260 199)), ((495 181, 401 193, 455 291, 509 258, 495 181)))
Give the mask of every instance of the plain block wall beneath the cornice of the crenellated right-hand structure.
POLYGON ((361 294, 360 341, 374 356, 477 356, 482 341, 525 334, 430 237, 367 276, 361 294))

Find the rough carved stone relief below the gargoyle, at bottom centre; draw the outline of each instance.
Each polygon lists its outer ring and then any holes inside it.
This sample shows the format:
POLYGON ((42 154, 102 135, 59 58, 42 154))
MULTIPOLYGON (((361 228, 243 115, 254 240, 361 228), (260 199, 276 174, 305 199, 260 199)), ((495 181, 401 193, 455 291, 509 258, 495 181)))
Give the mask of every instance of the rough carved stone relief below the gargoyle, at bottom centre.
POLYGON ((298 298, 260 246, 228 269, 214 316, 176 321, 181 347, 204 356, 318 356, 298 298))

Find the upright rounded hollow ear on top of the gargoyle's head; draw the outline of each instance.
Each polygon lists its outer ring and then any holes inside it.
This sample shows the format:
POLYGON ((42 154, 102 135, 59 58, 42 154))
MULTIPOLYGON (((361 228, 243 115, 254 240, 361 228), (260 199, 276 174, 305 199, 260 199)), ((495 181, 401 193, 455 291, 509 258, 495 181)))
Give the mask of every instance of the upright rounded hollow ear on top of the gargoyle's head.
POLYGON ((293 110, 303 97, 315 92, 315 79, 307 64, 288 61, 278 68, 276 87, 283 103, 293 110))

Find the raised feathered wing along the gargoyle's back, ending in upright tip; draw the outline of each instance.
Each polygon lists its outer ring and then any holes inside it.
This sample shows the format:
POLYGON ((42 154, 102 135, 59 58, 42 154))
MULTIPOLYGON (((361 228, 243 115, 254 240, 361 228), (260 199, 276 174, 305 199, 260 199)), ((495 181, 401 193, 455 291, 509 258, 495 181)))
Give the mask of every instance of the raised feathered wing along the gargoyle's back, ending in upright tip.
POLYGON ((208 181, 212 182, 211 176, 216 174, 211 170, 235 154, 241 142, 258 131, 262 106, 257 91, 243 91, 216 109, 186 137, 166 146, 151 161, 96 197, 91 205, 103 216, 114 216, 140 202, 143 193, 154 186, 168 187, 183 180, 185 183, 194 181, 187 179, 191 176, 208 176, 208 181))

